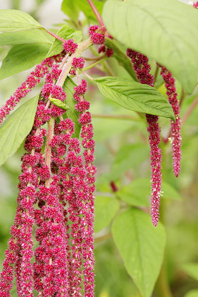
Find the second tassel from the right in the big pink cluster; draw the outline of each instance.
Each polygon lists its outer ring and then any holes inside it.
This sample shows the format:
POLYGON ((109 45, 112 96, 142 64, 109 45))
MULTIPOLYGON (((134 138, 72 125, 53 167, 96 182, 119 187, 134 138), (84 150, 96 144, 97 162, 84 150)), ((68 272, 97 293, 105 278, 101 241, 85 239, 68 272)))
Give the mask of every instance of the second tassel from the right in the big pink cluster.
POLYGON ((72 138, 74 123, 71 119, 61 120, 55 125, 55 135, 50 143, 52 149, 52 170, 58 172, 62 184, 63 194, 61 203, 67 205, 64 210, 66 230, 68 231, 68 218, 71 221, 70 237, 71 246, 66 245, 68 268, 68 294, 69 296, 82 296, 82 246, 81 246, 81 201, 77 193, 83 184, 83 163, 80 156, 80 142, 72 138))

